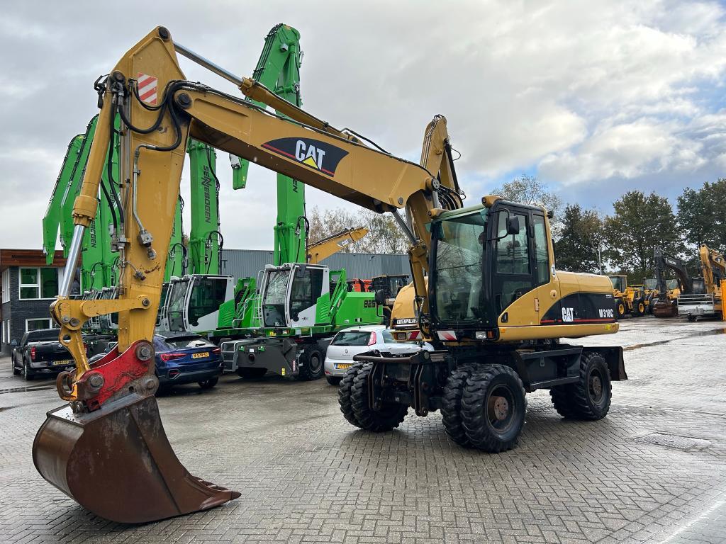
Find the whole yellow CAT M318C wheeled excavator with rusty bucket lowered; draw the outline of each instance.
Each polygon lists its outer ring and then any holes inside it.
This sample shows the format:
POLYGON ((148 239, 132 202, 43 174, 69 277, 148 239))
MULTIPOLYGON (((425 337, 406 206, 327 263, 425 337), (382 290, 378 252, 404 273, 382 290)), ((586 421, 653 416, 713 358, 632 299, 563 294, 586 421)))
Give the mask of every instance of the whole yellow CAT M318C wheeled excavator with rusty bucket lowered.
POLYGON ((152 335, 190 136, 369 210, 393 213, 409 237, 417 321, 437 349, 361 356, 339 390, 352 424, 380 432, 397 426, 410 407, 419 416, 440 409, 452 440, 502 451, 518 440, 526 391, 550 389, 566 417, 600 419, 608 412, 611 380, 627 378, 621 348, 566 345, 560 338, 618 330, 610 281, 555 269, 542 207, 492 196, 462 207, 448 138, 431 162, 435 171, 395 157, 200 57, 163 27, 131 48, 97 91, 97 137, 73 210, 68 267, 96 215, 118 114, 122 189, 113 202, 125 218, 123 230, 113 233, 121 255, 118 297, 72 300, 73 274, 65 274, 51 311, 76 368, 58 377, 68 404, 48 413, 33 443, 40 474, 95 514, 149 522, 238 496, 181 466, 154 397, 152 335), (177 53, 277 113, 187 81, 177 53), (142 75, 156 81, 154 103, 139 96, 142 75), (107 313, 118 313, 118 346, 89 365, 81 327, 107 313))

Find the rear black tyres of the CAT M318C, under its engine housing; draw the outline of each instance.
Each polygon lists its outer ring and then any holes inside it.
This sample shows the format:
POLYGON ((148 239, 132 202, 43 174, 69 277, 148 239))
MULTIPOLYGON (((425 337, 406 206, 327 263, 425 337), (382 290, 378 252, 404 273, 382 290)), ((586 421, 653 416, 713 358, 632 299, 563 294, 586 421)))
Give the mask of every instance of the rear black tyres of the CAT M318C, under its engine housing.
POLYGON ((610 371, 603 356, 599 353, 582 355, 579 382, 552 387, 550 397, 555 410, 564 418, 603 419, 613 397, 610 371))

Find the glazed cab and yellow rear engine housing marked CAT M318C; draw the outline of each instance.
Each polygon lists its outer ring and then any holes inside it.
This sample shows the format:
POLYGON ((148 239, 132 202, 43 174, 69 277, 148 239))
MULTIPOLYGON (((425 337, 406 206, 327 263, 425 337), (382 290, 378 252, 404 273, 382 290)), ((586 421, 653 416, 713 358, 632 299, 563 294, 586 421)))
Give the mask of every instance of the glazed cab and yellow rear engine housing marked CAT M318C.
POLYGON ((555 338, 563 331, 547 325, 615 321, 607 279, 587 276, 580 285, 580 275, 555 272, 542 207, 482 202, 431 222, 428 289, 439 339, 504 339, 516 327, 536 327, 529 338, 555 338))

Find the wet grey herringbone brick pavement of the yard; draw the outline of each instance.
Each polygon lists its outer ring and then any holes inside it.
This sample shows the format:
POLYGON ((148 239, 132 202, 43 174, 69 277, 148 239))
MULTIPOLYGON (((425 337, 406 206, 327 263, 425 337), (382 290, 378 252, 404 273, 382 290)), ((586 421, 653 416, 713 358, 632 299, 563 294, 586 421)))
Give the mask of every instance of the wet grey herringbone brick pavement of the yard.
POLYGON ((520 445, 499 455, 449 442, 438 413, 356 430, 324 380, 179 387, 159 399, 177 455, 242 496, 141 526, 37 474, 33 437, 61 403, 52 380, 23 382, 2 358, 0 542, 726 543, 725 326, 640 318, 584 339, 627 349, 608 417, 565 421, 535 392, 520 445))

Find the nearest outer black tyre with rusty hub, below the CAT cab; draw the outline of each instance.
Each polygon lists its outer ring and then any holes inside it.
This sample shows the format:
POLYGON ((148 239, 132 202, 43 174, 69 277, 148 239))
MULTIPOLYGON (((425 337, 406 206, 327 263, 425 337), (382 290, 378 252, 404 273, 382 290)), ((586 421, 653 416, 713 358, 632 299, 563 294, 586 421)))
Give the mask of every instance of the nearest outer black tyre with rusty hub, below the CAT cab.
POLYGON ((524 426, 527 400, 518 374, 487 365, 466 381, 461 401, 463 426, 471 445, 489 453, 514 448, 524 426))

